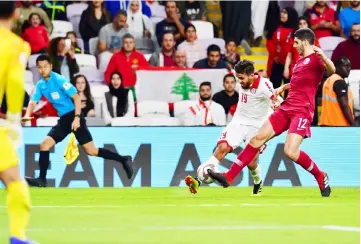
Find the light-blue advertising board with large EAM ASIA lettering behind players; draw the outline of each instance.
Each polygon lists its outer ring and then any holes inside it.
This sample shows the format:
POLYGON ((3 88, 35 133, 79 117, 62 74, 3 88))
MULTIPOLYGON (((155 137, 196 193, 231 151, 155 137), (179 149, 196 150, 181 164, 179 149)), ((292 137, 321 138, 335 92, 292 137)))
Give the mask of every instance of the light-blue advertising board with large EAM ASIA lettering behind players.
MULTIPOLYGON (((19 150, 21 170, 38 174, 39 144, 50 128, 24 128, 24 147, 19 150)), ((66 138, 50 154, 49 185, 55 187, 184 186, 183 179, 195 174, 201 162, 212 154, 221 127, 93 127, 95 144, 132 155, 137 174, 128 180, 119 163, 87 156, 82 150, 77 161, 66 166, 66 138)), ((314 178, 283 153, 286 135, 268 143, 260 157, 263 182, 267 186, 316 186, 314 178)), ((332 186, 360 185, 360 129, 312 128, 302 150, 310 154, 321 169, 328 172, 332 186)), ((220 170, 230 167, 241 151, 236 149, 222 161, 220 170)), ((235 185, 252 184, 248 169, 235 185)), ((213 184, 214 185, 214 184, 213 184)))

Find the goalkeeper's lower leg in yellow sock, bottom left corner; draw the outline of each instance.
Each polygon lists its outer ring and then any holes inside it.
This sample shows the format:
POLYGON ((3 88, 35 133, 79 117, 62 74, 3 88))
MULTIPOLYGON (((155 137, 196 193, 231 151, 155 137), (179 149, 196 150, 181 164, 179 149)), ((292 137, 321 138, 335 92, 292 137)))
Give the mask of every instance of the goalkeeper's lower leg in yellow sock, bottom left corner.
POLYGON ((10 243, 30 244, 26 228, 30 219, 29 187, 20 176, 18 167, 11 167, 0 173, 0 180, 7 189, 10 243))

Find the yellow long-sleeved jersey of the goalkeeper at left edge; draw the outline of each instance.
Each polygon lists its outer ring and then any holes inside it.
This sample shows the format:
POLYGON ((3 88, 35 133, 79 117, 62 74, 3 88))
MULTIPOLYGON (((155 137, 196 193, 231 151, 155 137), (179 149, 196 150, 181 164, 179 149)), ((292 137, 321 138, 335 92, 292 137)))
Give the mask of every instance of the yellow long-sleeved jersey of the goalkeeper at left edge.
POLYGON ((25 91, 24 75, 29 55, 29 44, 9 29, 0 26, 0 103, 6 94, 9 122, 12 118, 21 118, 25 91))

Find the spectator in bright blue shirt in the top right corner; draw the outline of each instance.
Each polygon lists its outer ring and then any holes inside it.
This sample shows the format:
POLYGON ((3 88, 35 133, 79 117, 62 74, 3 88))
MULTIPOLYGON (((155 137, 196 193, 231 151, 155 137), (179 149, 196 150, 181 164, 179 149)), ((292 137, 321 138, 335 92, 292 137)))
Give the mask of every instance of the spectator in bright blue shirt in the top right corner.
POLYGON ((360 0, 350 1, 351 6, 344 8, 340 12, 340 23, 342 27, 341 36, 349 37, 351 26, 360 24, 360 0))

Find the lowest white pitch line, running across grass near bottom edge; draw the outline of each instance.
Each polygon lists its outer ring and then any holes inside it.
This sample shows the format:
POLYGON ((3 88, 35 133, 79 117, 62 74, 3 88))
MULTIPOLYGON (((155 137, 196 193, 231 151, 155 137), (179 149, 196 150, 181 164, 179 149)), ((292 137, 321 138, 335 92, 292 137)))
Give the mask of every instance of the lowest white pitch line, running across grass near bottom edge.
MULTIPOLYGON (((30 228, 29 232, 106 232, 121 231, 127 228, 121 227, 89 227, 89 228, 30 228)), ((329 230, 360 232, 360 227, 338 226, 338 225, 241 225, 241 226, 141 226, 141 231, 209 231, 209 230, 329 230)), ((7 232, 2 228, 0 232, 7 232)))

